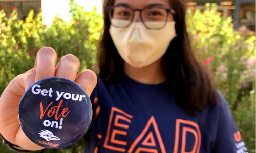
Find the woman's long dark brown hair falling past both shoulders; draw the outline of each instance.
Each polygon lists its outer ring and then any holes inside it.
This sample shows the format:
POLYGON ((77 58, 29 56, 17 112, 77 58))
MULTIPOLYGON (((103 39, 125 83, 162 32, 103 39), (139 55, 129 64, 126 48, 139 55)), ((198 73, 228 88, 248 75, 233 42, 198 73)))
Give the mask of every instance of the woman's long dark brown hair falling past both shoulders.
MULTIPOLYGON (((202 111, 205 104, 217 104, 217 92, 211 84, 206 70, 196 60, 186 31, 185 0, 171 0, 176 11, 174 20, 177 37, 170 43, 163 56, 163 67, 168 75, 169 87, 177 104, 189 112, 202 111)), ((104 33, 97 55, 99 77, 107 83, 120 82, 124 78, 124 61, 117 52, 109 33, 110 19, 106 7, 113 6, 114 0, 103 2, 104 33)))

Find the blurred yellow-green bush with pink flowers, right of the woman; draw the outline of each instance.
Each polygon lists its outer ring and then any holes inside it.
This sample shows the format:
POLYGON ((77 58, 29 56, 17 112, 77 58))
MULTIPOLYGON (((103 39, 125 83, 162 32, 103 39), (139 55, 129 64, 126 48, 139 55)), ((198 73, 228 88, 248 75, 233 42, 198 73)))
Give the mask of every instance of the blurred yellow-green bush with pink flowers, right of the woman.
POLYGON ((213 72, 248 152, 255 152, 254 32, 234 30, 232 19, 221 17, 215 3, 206 3, 203 12, 188 10, 186 22, 197 58, 213 72))

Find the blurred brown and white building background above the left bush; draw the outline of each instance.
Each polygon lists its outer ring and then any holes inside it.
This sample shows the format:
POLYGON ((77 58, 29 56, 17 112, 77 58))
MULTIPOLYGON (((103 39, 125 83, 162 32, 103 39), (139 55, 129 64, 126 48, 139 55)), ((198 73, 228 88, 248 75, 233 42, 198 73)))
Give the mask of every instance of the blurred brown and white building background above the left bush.
MULTIPOLYGON (((70 22, 69 17, 69 0, 0 0, 0 10, 4 9, 6 16, 12 11, 13 7, 18 8, 19 19, 25 19, 30 9, 35 14, 42 10, 44 24, 50 27, 53 19, 57 14, 67 23, 70 22)), ((84 6, 86 11, 93 11, 93 6, 98 9, 98 14, 102 12, 102 0, 75 0, 80 6, 84 6)))

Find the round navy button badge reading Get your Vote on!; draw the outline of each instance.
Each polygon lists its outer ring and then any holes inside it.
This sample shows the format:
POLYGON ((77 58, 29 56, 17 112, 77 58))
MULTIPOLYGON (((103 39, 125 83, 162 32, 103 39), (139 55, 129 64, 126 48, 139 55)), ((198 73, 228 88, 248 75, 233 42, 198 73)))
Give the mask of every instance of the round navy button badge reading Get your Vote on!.
POLYGON ((75 82, 50 77, 34 83, 20 100, 19 123, 39 146, 67 148, 79 141, 92 121, 92 104, 75 82))

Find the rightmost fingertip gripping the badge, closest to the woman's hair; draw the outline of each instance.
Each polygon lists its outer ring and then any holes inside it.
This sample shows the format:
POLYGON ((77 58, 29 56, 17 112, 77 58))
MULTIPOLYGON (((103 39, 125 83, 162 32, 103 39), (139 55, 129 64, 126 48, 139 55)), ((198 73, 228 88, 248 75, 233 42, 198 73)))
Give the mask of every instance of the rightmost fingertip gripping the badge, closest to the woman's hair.
POLYGON ((83 70, 77 75, 75 82, 80 85, 90 97, 93 89, 96 87, 97 76, 92 70, 83 70))

